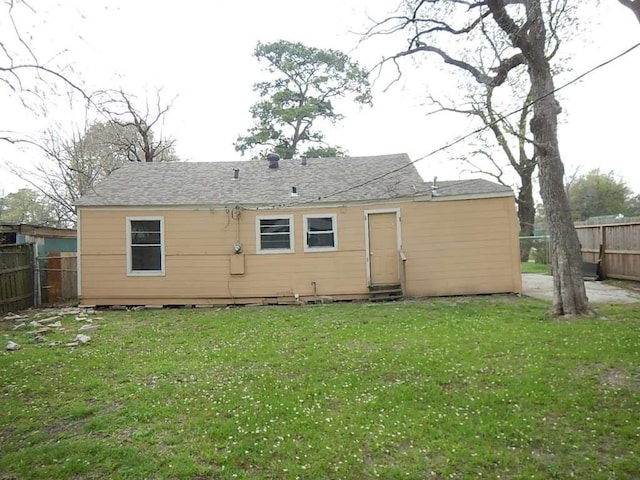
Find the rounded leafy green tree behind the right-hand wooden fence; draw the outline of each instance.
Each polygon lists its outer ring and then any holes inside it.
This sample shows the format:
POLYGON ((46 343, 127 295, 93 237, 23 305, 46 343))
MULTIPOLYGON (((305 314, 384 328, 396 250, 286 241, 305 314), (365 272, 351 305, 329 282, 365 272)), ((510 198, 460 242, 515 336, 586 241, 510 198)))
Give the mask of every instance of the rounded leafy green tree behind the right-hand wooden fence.
POLYGON ((634 213, 631 190, 624 181, 616 179, 613 172, 592 170, 573 179, 566 188, 574 220, 634 213))

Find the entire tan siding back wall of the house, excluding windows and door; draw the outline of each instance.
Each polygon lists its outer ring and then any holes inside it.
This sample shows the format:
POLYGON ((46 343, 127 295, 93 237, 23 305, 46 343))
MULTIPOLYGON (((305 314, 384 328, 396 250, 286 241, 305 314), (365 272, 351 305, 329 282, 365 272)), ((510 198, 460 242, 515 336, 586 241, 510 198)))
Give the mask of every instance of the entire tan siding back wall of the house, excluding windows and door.
POLYGON ((239 220, 219 209, 82 208, 81 300, 168 305, 291 301, 295 295, 366 298, 364 212, 379 208, 400 209, 407 295, 521 291, 515 206, 509 197, 242 210, 239 220), (303 215, 331 213, 337 215, 337 251, 305 252, 303 215), (294 253, 256 253, 256 216, 278 214, 294 216, 294 253), (126 217, 135 216, 164 218, 164 276, 127 276, 126 217), (242 257, 233 254, 237 241, 242 257), (242 271, 242 263, 244 274, 232 275, 242 271))

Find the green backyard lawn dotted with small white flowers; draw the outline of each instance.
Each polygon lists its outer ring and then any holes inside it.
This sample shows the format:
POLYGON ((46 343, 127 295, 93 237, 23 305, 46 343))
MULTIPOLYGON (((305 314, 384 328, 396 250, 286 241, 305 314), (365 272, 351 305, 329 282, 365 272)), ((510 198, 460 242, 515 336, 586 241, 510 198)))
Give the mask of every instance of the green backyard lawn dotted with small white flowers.
POLYGON ((0 478, 637 478, 640 305, 100 312, 0 354, 0 478))

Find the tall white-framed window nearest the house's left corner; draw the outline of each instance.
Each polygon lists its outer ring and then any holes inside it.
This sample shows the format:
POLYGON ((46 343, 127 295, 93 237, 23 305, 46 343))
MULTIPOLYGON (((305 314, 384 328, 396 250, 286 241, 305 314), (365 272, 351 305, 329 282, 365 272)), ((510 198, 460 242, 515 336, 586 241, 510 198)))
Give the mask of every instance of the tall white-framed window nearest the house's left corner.
POLYGON ((164 275, 163 217, 127 217, 127 275, 164 275))

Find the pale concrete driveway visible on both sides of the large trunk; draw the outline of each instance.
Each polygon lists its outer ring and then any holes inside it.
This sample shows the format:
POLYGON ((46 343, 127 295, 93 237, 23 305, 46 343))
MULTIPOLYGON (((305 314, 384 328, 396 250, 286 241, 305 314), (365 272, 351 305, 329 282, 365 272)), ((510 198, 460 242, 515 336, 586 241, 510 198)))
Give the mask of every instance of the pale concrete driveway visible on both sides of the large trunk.
MULTIPOLYGON (((640 302, 640 293, 638 292, 595 281, 585 281, 584 286, 587 289, 587 298, 590 303, 640 302)), ((523 273, 522 294, 527 297, 553 300, 553 277, 539 273, 523 273)))

